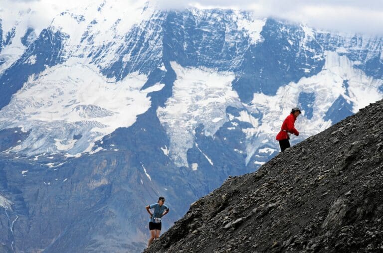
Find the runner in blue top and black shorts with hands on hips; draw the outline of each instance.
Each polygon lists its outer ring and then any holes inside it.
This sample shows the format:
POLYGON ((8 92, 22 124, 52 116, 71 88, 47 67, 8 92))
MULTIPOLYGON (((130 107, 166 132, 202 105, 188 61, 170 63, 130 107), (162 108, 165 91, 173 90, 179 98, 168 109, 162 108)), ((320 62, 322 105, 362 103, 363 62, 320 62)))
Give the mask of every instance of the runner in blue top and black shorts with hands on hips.
POLYGON ((150 239, 148 241, 148 247, 153 242, 154 239, 158 239, 161 233, 161 224, 162 217, 169 213, 169 208, 164 205, 165 198, 159 197, 156 204, 149 205, 146 208, 146 211, 150 214, 149 230, 150 230, 150 239), (149 209, 154 209, 154 212, 151 213, 149 209))

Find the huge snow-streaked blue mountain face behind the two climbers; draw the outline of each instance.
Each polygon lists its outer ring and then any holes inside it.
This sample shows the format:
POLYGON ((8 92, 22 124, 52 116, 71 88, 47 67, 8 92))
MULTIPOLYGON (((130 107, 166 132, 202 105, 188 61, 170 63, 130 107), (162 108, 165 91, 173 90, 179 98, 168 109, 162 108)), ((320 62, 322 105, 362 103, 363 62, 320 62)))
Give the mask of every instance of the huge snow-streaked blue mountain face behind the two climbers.
POLYGON ((2 17, 1 249, 141 251, 144 206, 166 196, 166 229, 257 170, 291 108, 297 143, 383 97, 380 37, 123 4, 2 17))

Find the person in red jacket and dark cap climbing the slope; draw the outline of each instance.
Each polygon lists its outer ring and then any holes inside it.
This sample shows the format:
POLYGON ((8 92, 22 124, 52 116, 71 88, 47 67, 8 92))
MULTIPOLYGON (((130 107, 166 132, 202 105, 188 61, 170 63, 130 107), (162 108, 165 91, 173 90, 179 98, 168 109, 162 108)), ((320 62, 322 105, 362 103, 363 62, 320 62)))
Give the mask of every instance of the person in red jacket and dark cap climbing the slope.
POLYGON ((284 151, 286 148, 290 147, 290 134, 299 135, 299 132, 294 127, 295 120, 298 115, 301 114, 301 110, 297 107, 291 109, 291 114, 282 123, 281 130, 277 134, 276 140, 279 140, 279 145, 281 146, 281 151, 284 151))

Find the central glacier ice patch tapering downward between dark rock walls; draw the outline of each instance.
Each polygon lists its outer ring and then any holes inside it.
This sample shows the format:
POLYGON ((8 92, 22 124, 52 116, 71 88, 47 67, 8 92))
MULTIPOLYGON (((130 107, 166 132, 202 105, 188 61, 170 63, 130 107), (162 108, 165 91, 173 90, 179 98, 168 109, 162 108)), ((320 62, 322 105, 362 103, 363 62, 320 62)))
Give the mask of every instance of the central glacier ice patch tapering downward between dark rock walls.
POLYGON ((158 108, 157 115, 170 137, 169 155, 178 166, 188 166, 186 153, 194 143, 194 128, 202 124, 204 134, 213 135, 224 121, 211 119, 227 119, 226 107, 240 106, 240 101, 231 88, 232 73, 171 65, 177 75, 173 96, 158 108))

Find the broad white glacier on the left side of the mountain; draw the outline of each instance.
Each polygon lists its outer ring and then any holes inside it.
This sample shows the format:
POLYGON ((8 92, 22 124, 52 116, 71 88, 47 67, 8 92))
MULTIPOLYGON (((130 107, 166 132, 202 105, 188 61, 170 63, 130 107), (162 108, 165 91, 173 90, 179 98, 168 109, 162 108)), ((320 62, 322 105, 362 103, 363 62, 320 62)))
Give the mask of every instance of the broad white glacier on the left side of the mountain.
POLYGON ((82 62, 71 58, 65 64, 47 68, 36 79, 30 78, 0 111, 0 119, 14 119, 1 121, 1 129, 31 130, 11 152, 90 152, 98 139, 118 127, 131 126, 137 115, 150 108, 147 94, 164 87, 156 84, 140 90, 146 75, 132 73, 115 82, 99 74, 95 66, 82 62), (73 139, 74 133, 82 137, 73 139))

